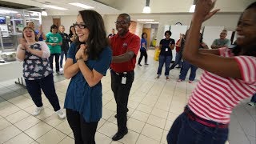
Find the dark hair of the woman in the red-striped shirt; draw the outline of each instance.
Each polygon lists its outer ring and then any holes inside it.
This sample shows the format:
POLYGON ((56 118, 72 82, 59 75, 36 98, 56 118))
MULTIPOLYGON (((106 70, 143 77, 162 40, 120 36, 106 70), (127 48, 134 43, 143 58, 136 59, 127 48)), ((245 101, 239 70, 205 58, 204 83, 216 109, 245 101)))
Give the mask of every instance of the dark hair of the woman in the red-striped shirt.
MULTIPOLYGON (((256 10, 256 2, 251 3, 249 6, 246 7, 246 10, 248 9, 255 9, 256 10)), ((242 14, 240 15, 239 21, 242 18, 242 14)), ((238 21, 238 25, 239 25, 239 21, 238 21)), ((255 49, 256 45, 252 45, 250 46, 243 55, 248 55, 248 56, 254 56, 256 57, 256 49, 255 49)), ((239 55, 239 53, 241 52, 242 47, 241 46, 235 46, 232 49, 232 52, 234 53, 234 55, 239 55)))

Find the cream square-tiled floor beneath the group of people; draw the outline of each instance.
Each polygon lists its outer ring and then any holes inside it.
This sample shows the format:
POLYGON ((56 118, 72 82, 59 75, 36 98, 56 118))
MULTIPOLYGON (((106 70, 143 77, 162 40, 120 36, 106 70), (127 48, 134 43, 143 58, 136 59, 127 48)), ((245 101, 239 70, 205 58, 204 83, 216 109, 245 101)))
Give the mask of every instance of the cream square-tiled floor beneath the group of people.
MULTIPOLYGON (((149 66, 136 66, 135 79, 130 91, 129 133, 118 142, 111 137, 117 131, 114 118, 116 104, 110 89, 110 73, 102 79, 103 114, 98 124, 98 144, 164 144, 166 134, 178 114, 182 113, 196 82, 176 82, 179 70, 170 72, 170 81, 164 76, 154 79, 158 62, 153 60, 154 51, 149 50, 149 66)), ((142 60, 143 63, 143 60, 142 60)), ((164 70, 164 69, 163 69, 164 70)), ((198 77, 202 70, 198 70, 198 77)), ((69 80, 54 76, 58 98, 63 106, 69 80)), ((60 120, 45 96, 45 109, 34 117, 34 103, 26 89, 15 85, 14 80, 0 83, 0 143, 5 144, 72 144, 74 137, 66 119, 60 120)), ((242 102, 232 114, 230 144, 256 144, 256 108, 242 102)))

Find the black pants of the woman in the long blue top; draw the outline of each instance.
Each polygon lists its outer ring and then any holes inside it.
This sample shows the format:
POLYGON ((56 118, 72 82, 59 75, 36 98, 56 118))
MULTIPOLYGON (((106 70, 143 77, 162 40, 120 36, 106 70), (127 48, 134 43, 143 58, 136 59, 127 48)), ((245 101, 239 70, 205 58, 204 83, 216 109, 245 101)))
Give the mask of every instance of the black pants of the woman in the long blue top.
POLYGON ((66 109, 66 118, 74 134, 75 144, 95 144, 98 122, 86 122, 78 111, 66 109))

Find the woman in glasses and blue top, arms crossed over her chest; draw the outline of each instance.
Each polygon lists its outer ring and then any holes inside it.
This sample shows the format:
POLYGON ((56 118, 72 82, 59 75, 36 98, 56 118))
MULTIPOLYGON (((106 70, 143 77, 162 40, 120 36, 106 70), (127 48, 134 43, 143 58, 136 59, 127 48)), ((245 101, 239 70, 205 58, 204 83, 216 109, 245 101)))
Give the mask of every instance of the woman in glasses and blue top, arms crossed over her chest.
POLYGON ((64 76, 71 78, 64 107, 75 143, 94 144, 102 118, 101 79, 110 66, 112 51, 102 16, 96 11, 79 11, 74 28, 78 38, 71 44, 64 66, 64 76))

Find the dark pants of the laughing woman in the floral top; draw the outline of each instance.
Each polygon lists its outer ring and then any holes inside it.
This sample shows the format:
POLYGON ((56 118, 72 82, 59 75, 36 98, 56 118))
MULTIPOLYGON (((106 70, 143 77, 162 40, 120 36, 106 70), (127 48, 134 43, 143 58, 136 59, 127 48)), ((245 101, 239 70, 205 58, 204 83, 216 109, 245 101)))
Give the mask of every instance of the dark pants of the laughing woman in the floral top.
POLYGON ((26 80, 26 89, 29 92, 34 104, 38 107, 42 106, 42 91, 48 98, 51 106, 54 107, 54 111, 60 110, 58 96, 54 87, 54 76, 53 74, 48 75, 45 78, 37 80, 26 80))

